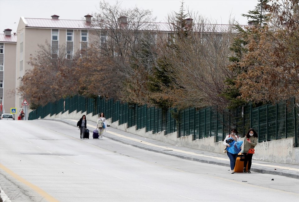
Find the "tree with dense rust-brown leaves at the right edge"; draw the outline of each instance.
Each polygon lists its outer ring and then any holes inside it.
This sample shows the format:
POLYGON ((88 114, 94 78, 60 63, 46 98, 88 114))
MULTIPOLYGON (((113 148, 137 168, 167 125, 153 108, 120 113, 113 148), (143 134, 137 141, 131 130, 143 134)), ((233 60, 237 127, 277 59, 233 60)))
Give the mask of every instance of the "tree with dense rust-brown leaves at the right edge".
POLYGON ((271 26, 253 27, 248 53, 235 65, 241 98, 268 103, 299 99, 299 6, 298 0, 274 1, 271 26))

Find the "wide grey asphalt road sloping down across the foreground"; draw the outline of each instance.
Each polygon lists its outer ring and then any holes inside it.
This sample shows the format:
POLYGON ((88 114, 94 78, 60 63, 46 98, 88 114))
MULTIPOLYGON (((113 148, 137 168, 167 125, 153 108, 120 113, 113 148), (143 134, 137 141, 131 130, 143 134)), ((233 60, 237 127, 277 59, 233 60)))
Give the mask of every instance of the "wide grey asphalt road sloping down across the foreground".
POLYGON ((0 185, 11 201, 299 201, 298 179, 78 137, 62 122, 1 120, 0 185))

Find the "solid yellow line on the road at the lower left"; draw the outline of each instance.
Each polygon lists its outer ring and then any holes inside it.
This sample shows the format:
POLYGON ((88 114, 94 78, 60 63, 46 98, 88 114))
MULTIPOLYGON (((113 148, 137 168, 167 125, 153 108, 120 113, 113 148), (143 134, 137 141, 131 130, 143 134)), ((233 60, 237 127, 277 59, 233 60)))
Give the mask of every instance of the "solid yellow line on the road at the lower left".
POLYGON ((9 175, 11 175, 16 180, 22 182, 23 184, 29 186, 31 189, 35 190, 39 195, 41 195, 42 197, 44 197, 47 201, 50 201, 50 202, 59 202, 53 196, 49 195, 44 190, 40 189, 38 186, 33 185, 30 182, 26 181, 24 178, 22 178, 21 176, 17 175, 16 173, 14 173, 13 171, 11 171, 7 167, 3 166, 1 163, 0 163, 0 169, 4 170, 5 172, 7 172, 9 175))

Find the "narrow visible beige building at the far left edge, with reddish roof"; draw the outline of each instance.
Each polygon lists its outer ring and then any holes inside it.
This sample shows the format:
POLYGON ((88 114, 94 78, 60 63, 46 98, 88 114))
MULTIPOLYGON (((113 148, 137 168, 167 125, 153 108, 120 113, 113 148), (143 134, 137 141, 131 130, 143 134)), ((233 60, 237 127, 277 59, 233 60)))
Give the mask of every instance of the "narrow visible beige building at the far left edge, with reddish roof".
POLYGON ((0 114, 15 107, 17 35, 11 31, 0 34, 0 114))

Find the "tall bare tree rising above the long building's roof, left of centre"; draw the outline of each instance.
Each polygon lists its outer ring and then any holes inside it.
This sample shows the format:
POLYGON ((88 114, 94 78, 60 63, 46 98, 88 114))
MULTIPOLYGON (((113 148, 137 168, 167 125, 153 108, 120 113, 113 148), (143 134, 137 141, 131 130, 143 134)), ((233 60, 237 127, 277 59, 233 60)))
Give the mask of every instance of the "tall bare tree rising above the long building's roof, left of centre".
POLYGON ((89 50, 88 54, 93 65, 85 65, 84 69, 90 73, 91 79, 98 81, 91 89, 107 86, 95 93, 119 98, 123 82, 136 73, 131 66, 139 57, 135 50, 144 34, 155 30, 155 18, 149 10, 123 9, 120 2, 115 5, 100 2, 98 10, 92 21, 96 37, 92 42, 92 52, 89 50))

